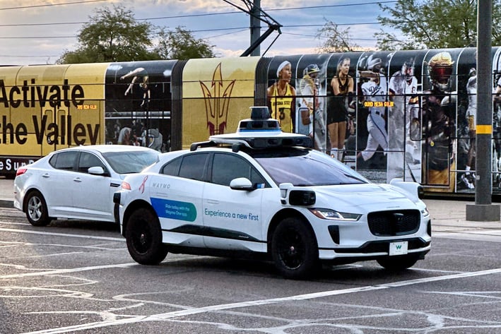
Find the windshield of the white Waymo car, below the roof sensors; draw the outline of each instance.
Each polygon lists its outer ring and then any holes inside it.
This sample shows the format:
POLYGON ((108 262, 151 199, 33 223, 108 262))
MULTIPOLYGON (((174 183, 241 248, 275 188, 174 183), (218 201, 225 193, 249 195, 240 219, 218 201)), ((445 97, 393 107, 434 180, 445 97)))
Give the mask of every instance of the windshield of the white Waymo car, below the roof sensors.
POLYGON ((369 183, 350 167, 315 150, 291 148, 251 154, 276 184, 331 186, 369 183))

